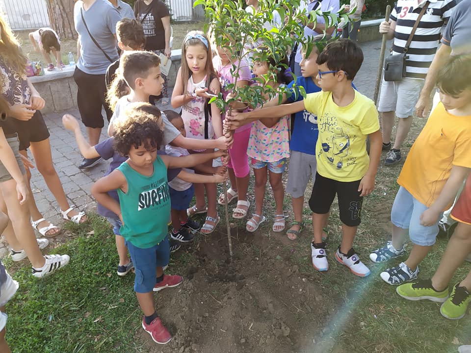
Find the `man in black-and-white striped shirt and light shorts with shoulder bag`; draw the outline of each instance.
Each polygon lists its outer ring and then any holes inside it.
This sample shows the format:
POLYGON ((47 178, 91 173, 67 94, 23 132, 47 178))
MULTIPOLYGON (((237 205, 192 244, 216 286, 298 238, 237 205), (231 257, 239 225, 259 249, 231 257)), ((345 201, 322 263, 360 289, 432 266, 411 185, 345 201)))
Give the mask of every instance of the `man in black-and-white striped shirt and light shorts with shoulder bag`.
POLYGON ((407 51, 406 77, 400 81, 383 80, 378 111, 382 116, 383 151, 389 151, 385 165, 391 166, 401 160, 401 145, 412 125, 415 104, 419 99, 424 78, 437 51, 442 27, 447 23, 456 0, 398 0, 391 19, 379 26, 379 32, 393 40, 392 54, 404 51, 407 39, 419 17, 422 7, 428 7, 420 19, 417 30, 407 51), (394 117, 399 118, 395 141, 391 143, 394 117))

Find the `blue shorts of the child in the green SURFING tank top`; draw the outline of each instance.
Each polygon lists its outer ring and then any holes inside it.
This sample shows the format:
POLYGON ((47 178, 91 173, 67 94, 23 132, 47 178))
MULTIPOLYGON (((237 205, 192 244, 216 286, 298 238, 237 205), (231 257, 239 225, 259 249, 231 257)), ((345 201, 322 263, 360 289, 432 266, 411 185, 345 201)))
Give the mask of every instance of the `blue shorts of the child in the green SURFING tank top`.
POLYGON ((152 248, 142 249, 126 241, 126 246, 131 254, 134 264, 134 292, 149 293, 156 285, 157 267, 168 265, 170 258, 170 247, 168 245, 168 236, 152 248))

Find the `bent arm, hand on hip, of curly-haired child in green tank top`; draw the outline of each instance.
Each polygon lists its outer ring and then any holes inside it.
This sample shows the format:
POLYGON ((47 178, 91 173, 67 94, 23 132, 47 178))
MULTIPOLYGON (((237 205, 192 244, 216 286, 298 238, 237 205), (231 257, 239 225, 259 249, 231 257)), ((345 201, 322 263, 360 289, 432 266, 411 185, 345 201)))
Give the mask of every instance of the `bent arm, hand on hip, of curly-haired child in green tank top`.
POLYGON ((121 222, 123 222, 119 202, 108 195, 108 191, 116 189, 121 189, 125 193, 128 192, 128 181, 124 174, 117 169, 107 176, 98 179, 95 184, 92 185, 91 192, 98 203, 109 209, 111 212, 116 213, 121 222))

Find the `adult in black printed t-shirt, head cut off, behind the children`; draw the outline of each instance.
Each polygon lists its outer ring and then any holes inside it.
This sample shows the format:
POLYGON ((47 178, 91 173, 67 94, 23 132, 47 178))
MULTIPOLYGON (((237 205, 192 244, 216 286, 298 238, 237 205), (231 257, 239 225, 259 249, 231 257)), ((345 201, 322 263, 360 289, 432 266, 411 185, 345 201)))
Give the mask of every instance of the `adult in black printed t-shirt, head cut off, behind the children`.
MULTIPOLYGON (((170 12, 162 0, 137 0, 134 4, 134 14, 137 21, 142 24, 146 36, 145 50, 156 54, 171 56, 170 48, 170 12)), ((168 104, 167 77, 162 88, 162 105, 168 104)))

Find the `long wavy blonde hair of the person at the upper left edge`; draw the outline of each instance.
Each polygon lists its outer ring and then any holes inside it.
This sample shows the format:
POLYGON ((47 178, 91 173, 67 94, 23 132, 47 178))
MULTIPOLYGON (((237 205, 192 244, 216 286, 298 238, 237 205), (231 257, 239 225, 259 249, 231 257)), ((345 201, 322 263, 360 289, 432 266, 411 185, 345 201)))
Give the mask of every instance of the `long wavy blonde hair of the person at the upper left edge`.
POLYGON ((20 43, 1 13, 0 31, 0 55, 2 59, 5 61, 5 64, 23 75, 26 69, 27 58, 21 52, 20 43))

